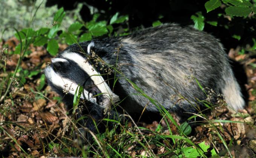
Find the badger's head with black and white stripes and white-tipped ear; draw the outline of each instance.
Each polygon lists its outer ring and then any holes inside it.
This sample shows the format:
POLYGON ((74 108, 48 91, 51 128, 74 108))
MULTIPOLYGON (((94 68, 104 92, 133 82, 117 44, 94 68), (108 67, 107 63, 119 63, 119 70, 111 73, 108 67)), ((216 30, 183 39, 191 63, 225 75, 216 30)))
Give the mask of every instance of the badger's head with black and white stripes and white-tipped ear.
MULTIPOLYGON (((87 53, 90 55, 93 43, 87 46, 87 53)), ((113 93, 111 88, 105 82, 101 74, 94 68, 91 62, 87 61, 87 54, 64 50, 56 58, 52 59, 49 67, 46 67, 44 73, 48 83, 53 90, 61 96, 64 93, 71 96, 66 102, 72 103, 71 100, 75 95, 76 88, 82 86, 81 99, 90 103, 108 108, 111 104, 120 101, 119 96, 113 93)))

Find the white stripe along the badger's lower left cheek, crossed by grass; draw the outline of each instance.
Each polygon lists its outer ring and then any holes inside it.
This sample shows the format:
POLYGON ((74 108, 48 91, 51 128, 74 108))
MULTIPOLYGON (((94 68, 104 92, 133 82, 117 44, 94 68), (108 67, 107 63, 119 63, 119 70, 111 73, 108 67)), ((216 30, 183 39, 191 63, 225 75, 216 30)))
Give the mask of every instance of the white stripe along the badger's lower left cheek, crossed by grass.
MULTIPOLYGON (((61 76, 59 76, 59 74, 55 73, 55 71, 51 67, 46 67, 44 72, 55 86, 61 88, 62 90, 69 90, 70 94, 75 95, 76 88, 78 87, 76 83, 70 81, 69 79, 62 78, 61 76)), ((90 93, 88 97, 88 93, 88 91, 84 90, 81 98, 89 100, 93 103, 97 103, 97 100, 95 97, 93 97, 93 94, 90 93)))

